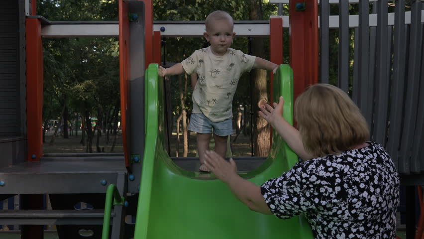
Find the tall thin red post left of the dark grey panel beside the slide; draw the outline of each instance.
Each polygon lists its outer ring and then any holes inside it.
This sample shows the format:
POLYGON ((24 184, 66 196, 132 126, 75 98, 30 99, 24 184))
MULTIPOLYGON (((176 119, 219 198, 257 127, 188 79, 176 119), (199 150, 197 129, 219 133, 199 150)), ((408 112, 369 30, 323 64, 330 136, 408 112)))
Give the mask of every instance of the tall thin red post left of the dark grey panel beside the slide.
POLYGON ((128 3, 119 0, 119 85, 121 98, 121 128, 122 128, 122 144, 125 157, 125 166, 129 167, 130 159, 130 125, 127 118, 130 110, 130 97, 128 95, 128 79, 129 79, 129 20, 128 20, 128 3))

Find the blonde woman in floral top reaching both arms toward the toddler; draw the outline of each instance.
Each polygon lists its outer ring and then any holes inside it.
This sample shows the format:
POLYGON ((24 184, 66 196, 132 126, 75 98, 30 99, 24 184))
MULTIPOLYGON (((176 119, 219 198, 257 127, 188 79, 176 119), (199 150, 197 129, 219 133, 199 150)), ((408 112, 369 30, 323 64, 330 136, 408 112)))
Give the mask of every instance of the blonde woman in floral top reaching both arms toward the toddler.
POLYGON ((299 130, 283 117, 280 97, 261 107, 266 119, 302 159, 257 186, 237 175, 232 159, 206 153, 206 164, 251 210, 288 219, 304 214, 317 239, 396 238, 399 175, 390 156, 368 142, 366 120, 337 87, 317 84, 295 103, 299 130))

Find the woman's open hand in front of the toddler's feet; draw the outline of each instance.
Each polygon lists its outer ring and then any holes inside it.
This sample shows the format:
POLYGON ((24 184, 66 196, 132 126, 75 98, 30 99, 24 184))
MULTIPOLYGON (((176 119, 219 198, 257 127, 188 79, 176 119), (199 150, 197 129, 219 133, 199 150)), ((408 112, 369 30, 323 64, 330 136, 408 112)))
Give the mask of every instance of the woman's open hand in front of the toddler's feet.
POLYGON ((211 169, 216 178, 224 183, 231 181, 233 176, 237 176, 237 165, 232 158, 227 162, 219 154, 214 151, 206 151, 206 166, 211 169))

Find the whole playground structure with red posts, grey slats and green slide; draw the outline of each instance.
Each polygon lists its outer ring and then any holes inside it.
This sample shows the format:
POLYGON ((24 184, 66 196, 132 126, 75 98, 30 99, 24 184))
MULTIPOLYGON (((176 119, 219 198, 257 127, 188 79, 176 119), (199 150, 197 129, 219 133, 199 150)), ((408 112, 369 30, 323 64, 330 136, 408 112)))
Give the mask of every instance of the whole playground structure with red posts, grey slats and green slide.
MULTIPOLYGON (((289 3, 287 0, 271 0, 271 2, 289 3)), ((338 86, 346 92, 352 92, 352 98, 371 126, 372 140, 388 149, 402 174, 402 184, 409 186, 407 187, 407 200, 409 200, 407 205, 410 208, 407 210, 407 220, 409 220, 407 226, 409 235, 412 235, 415 233, 414 213, 417 210, 414 208, 415 187, 411 185, 423 184, 422 170, 424 169, 423 160, 419 157, 420 153, 423 153, 424 144, 422 125, 424 122, 424 73, 422 72, 424 69, 422 43, 424 4, 421 1, 413 1, 411 11, 405 12, 405 2, 400 0, 396 2, 393 14, 387 13, 388 1, 374 1, 375 12, 369 14, 368 0, 361 0, 359 3, 352 0, 340 1, 339 16, 330 16, 329 4, 332 2, 331 0, 320 1, 320 82, 328 81, 329 28, 339 28, 338 86), (359 15, 348 15, 349 3, 359 5, 359 15), (349 28, 352 27, 355 28, 355 54, 353 82, 350 84, 348 49, 349 28), (394 29, 397 30, 394 31, 394 29), (373 81, 374 78, 375 81, 373 81), (404 78, 407 80, 404 81, 404 78), (391 125, 400 126, 391 127, 391 125)), ((113 239, 131 238, 134 229, 134 238, 137 239, 169 238, 170 235, 190 239, 193 235, 197 237, 205 231, 212 231, 207 230, 203 225, 219 221, 225 223, 223 219, 231 219, 229 215, 246 219, 245 222, 234 222, 236 219, 232 218, 231 222, 240 224, 238 227, 250 225, 250 228, 255 229, 256 225, 255 232, 258 235, 253 238, 261 238, 268 235, 267 233, 273 234, 271 226, 276 224, 287 225, 280 228, 283 232, 275 232, 280 237, 284 235, 284 231, 295 234, 299 229, 298 238, 311 238, 309 228, 299 223, 297 219, 287 222, 278 221, 269 216, 249 212, 246 207, 237 204, 222 184, 216 180, 200 180, 199 177, 202 175, 181 170, 162 151, 163 131, 159 128, 164 122, 163 112, 161 112, 163 96, 160 95, 163 93, 161 91, 163 82, 158 81, 157 76, 154 75, 157 66, 155 68, 155 65, 150 64, 160 63, 161 37, 200 36, 203 33, 203 22, 154 22, 150 0, 119 0, 118 22, 48 21, 41 16, 36 16, 35 1, 29 3, 29 1, 19 0, 11 7, 0 7, 0 9, 8 13, 3 14, 0 21, 7 24, 12 22, 10 24, 16 26, 15 29, 19 29, 15 35, 16 38, 10 40, 19 42, 18 46, 15 46, 16 44, 13 46, 15 47, 13 53, 16 52, 16 54, 11 55, 16 63, 15 75, 2 73, 3 67, 0 64, 0 79, 18 89, 16 94, 10 97, 13 98, 15 108, 9 115, 14 114, 16 118, 5 117, 0 120, 0 149, 3 152, 0 159, 0 200, 17 194, 21 195, 20 210, 1 211, 0 225, 25 225, 21 228, 22 238, 42 238, 43 227, 40 225, 51 224, 59 225, 58 232, 61 231, 59 233, 61 238, 77 238, 78 230, 82 228, 93 230, 94 238, 100 238, 101 227, 93 225, 104 223, 106 188, 113 184, 116 185, 114 190, 116 204, 108 218, 111 219, 111 238, 113 239), (137 20, 130 21, 129 12, 136 14, 137 20), (10 15, 18 17, 13 18, 15 21, 10 21, 8 20, 11 19, 10 15), (161 31, 161 27, 165 30, 161 31), (119 36, 123 156, 120 154, 43 155, 42 153, 42 37, 75 36, 119 36), (28 64, 29 62, 31 64, 28 64), (147 70, 146 74, 145 70, 147 70), (150 93, 153 95, 157 93, 156 98, 150 93), (26 119, 31 119, 31 123, 27 124, 29 121, 26 119), (146 128, 154 130, 149 131, 146 128), (145 148, 155 148, 155 150, 144 150, 145 148), (81 167, 82 164, 84 167, 81 167), (171 182, 178 182, 179 188, 171 190, 175 187, 170 185, 171 182), (200 190, 205 188, 205 185, 209 189, 208 192, 219 193, 216 205, 213 204, 208 208, 210 217, 199 213, 203 210, 199 209, 201 200, 189 199, 187 195, 187 192, 194 189, 200 190), (130 196, 128 193, 133 195, 130 196), (53 210, 42 210, 44 194, 49 194, 53 210), (117 194, 119 196, 116 196, 117 194), (122 196, 129 205, 126 210, 122 196), (170 198, 172 202, 168 201, 170 198), (136 207, 137 200, 138 207, 136 207), (90 202, 95 210, 69 210, 76 202, 86 201, 90 202), (223 203, 226 201, 230 202, 223 203), (161 208, 163 205, 169 208, 166 210, 161 208), (182 207, 182 205, 188 206, 182 207), (228 209, 223 211, 233 212, 233 214, 218 214, 217 210, 214 210, 217 205, 226 205, 224 207, 228 209), (195 211, 187 210, 189 207, 195 211), (125 215, 135 216, 135 212, 137 212, 136 224, 124 224, 125 215), (164 215, 169 217, 164 219, 162 217, 164 215), (208 219, 210 221, 203 221, 208 219), (197 222, 198 226, 190 225, 187 230, 184 229, 184 223, 193 222, 197 222), (271 228, 265 227, 265 224, 271 228), (170 230, 162 230, 164 225, 170 227, 170 230), (290 230, 287 230, 288 228, 290 230)), ((290 27, 291 34, 290 64, 295 79, 294 98, 296 98, 306 86, 318 82, 317 1, 291 0, 290 19, 288 16, 277 16, 270 18, 269 21, 248 23, 236 21, 234 31, 238 36, 269 35, 272 47, 270 60, 282 64, 283 28, 287 27, 290 27)), ((4 46, 9 47, 7 44, 4 46)), ((6 48, 4 52, 8 53, 13 49, 6 48)), ((4 59, 9 58, 4 57, 4 59)), ((284 82, 280 81, 281 78, 288 78, 290 75, 287 66, 280 66, 279 74, 271 80, 270 99, 276 99, 281 90, 286 89, 285 87, 281 89, 278 85, 284 82)), ((9 95, 0 91, 0 96, 9 95)), ((7 102, 9 98, 0 97, 0 100, 3 99, 4 102, 0 102, 1 109, 5 109, 3 105, 9 103, 7 102)), ((278 176, 295 162, 293 156, 283 156, 285 153, 278 147, 283 144, 279 141, 281 139, 275 133, 272 137, 273 147, 270 157, 260 168, 244 174, 257 184, 278 176), (277 148, 280 149, 277 150, 277 148)), ((200 195, 208 196, 207 192, 200 195)), ((299 218, 302 220, 302 217, 299 218)), ((223 226, 228 223, 212 224, 211 228, 222 229, 217 233, 220 233, 219 236, 223 238, 230 233, 241 235, 241 231, 228 231, 229 229, 223 226)), ((230 229, 232 226, 228 225, 230 229)), ((252 233, 247 232, 244 237, 252 237, 252 233)), ((105 234, 108 234, 107 230, 105 234)))

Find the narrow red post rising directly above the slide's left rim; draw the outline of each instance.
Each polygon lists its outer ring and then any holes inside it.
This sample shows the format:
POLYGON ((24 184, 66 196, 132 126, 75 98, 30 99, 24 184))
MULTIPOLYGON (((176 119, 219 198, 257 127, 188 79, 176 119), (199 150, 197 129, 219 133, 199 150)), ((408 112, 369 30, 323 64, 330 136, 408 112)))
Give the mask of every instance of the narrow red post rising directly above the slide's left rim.
POLYGON ((153 3, 152 0, 142 0, 144 2, 145 17, 145 52, 146 52, 146 69, 150 63, 153 63, 153 3))

